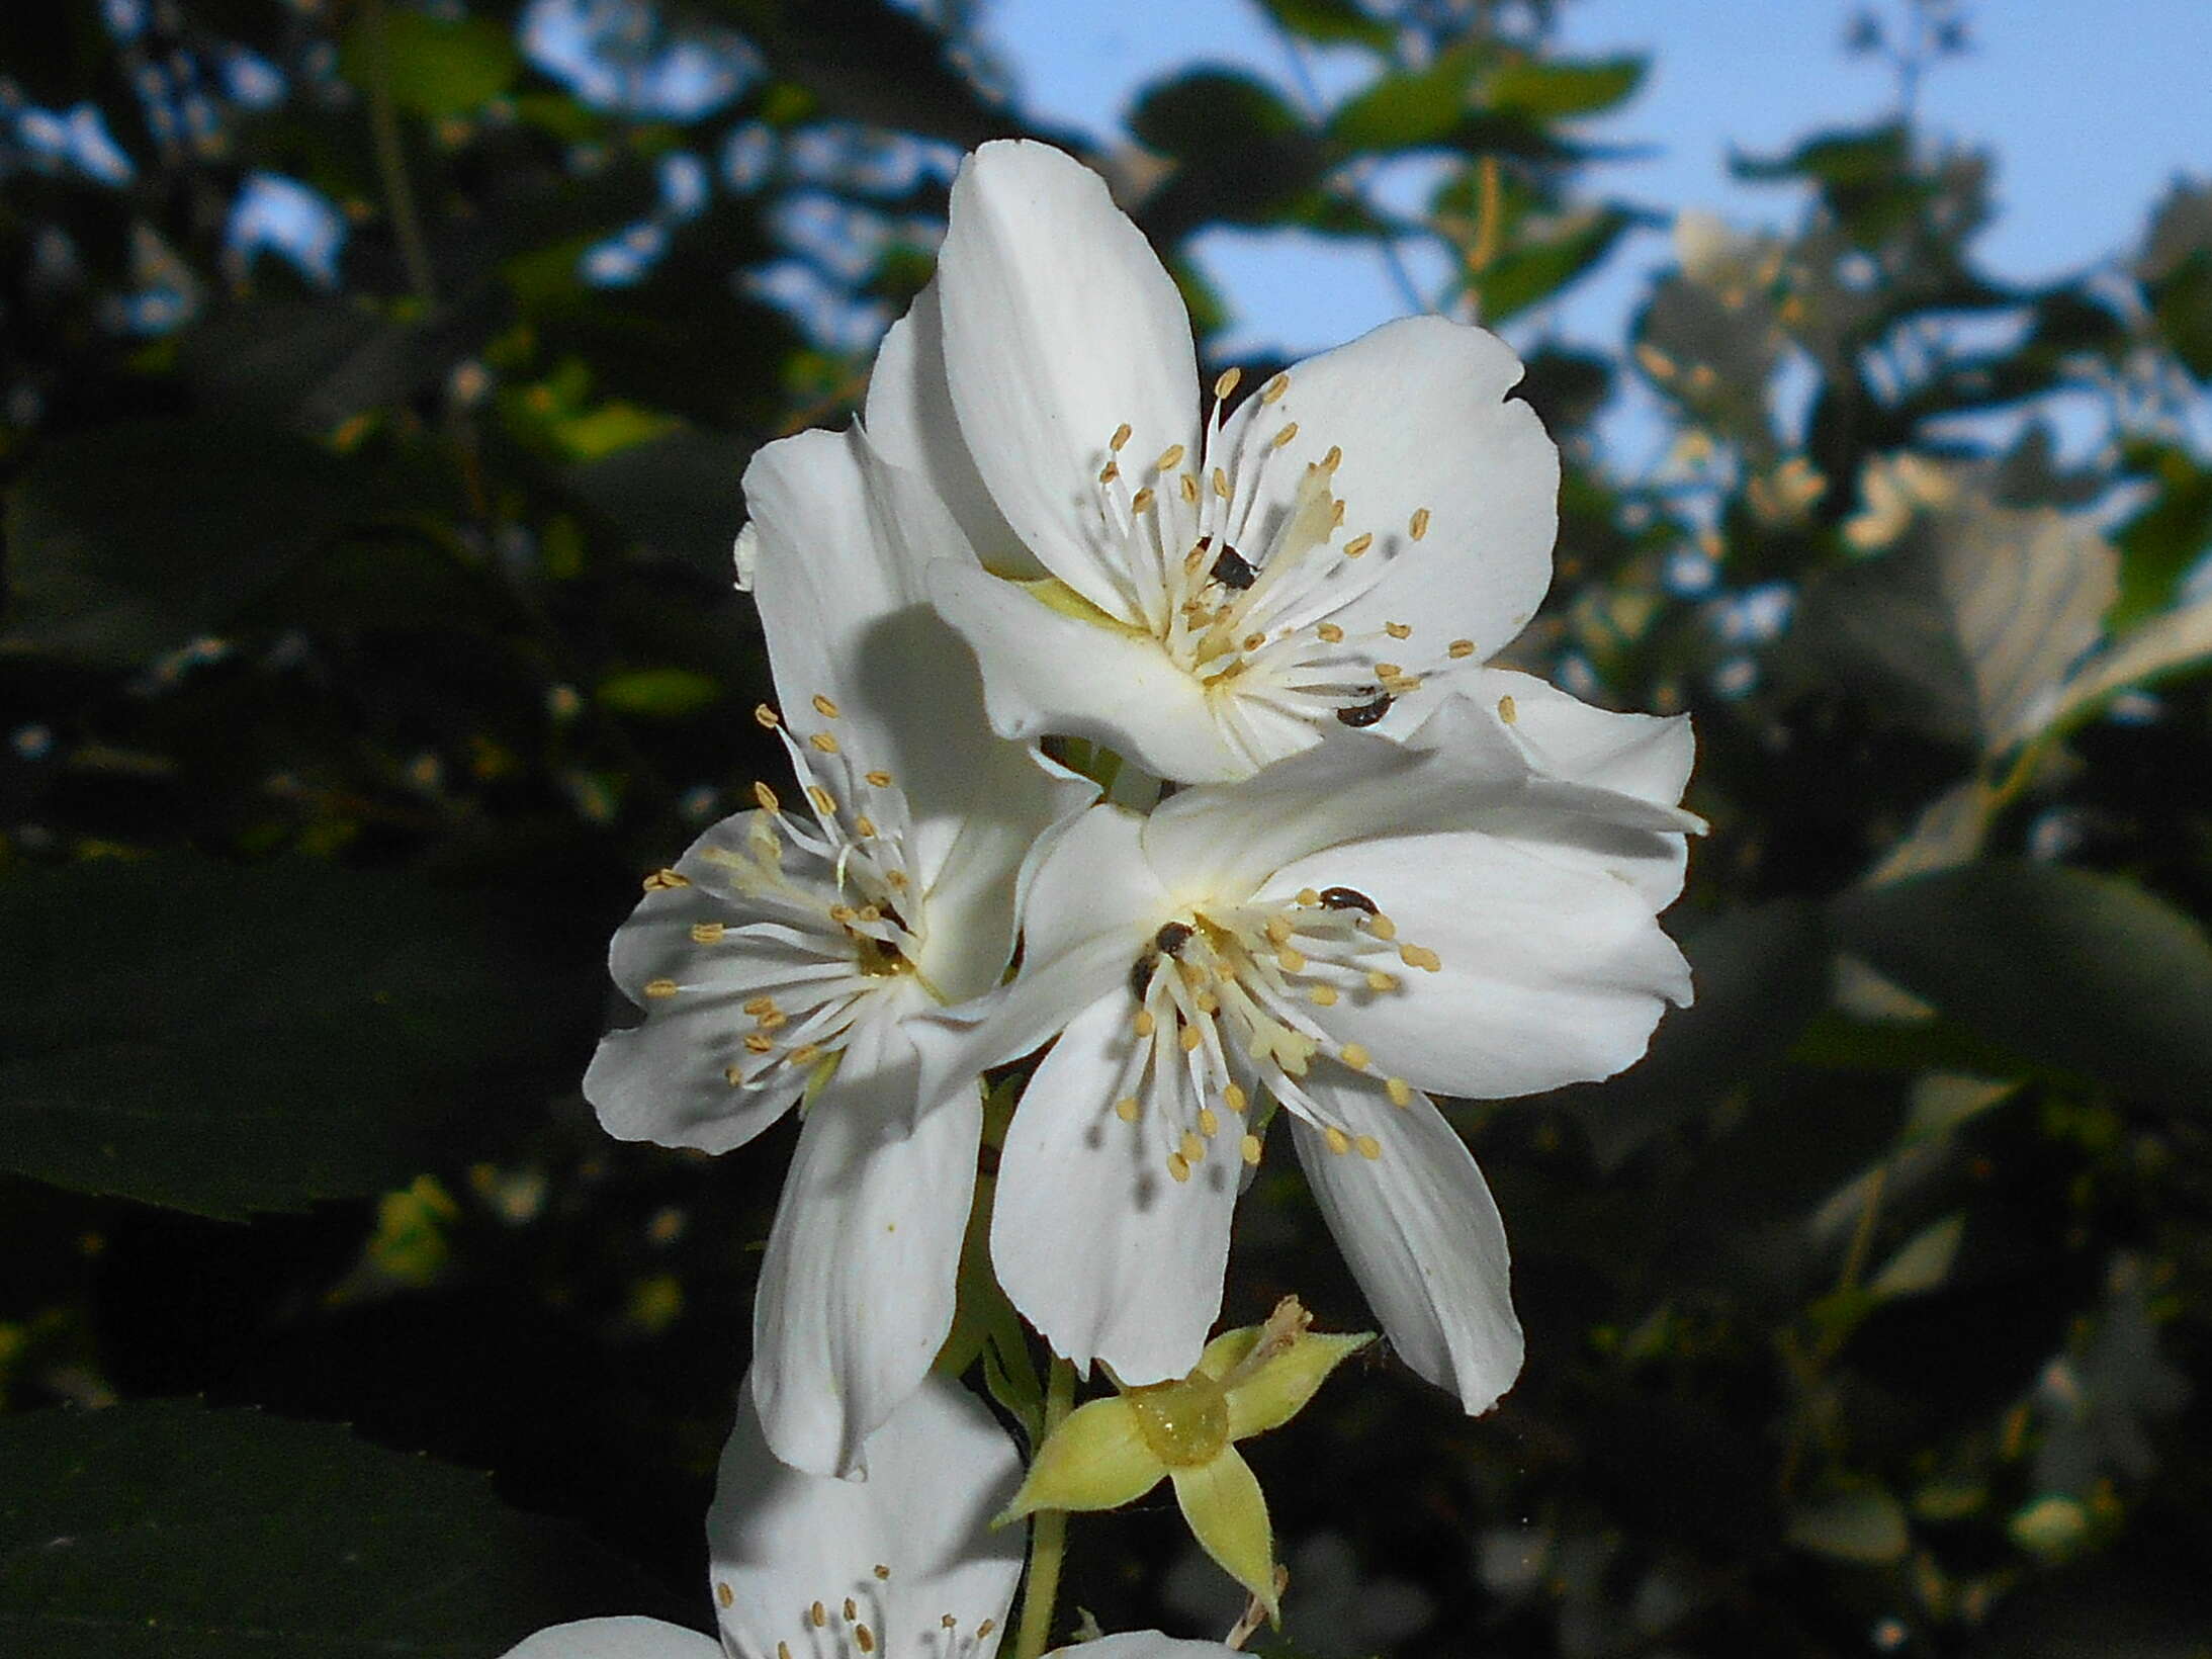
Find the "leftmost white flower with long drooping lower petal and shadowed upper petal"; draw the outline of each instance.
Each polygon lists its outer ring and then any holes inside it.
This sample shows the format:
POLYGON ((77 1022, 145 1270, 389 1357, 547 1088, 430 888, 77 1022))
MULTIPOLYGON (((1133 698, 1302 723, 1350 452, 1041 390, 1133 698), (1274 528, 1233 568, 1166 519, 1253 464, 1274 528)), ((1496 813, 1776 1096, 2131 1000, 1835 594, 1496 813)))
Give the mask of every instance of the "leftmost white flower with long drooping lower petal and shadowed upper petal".
POLYGON ((993 984, 1040 834, 1088 799, 1000 743, 975 666, 922 599, 971 557, 858 434, 745 471, 754 597, 799 787, 708 830, 615 933, 644 1024, 584 1077, 624 1139, 726 1152, 805 1095, 754 1301, 752 1394, 776 1453, 860 1473, 953 1316, 980 1099, 918 1015, 993 984))

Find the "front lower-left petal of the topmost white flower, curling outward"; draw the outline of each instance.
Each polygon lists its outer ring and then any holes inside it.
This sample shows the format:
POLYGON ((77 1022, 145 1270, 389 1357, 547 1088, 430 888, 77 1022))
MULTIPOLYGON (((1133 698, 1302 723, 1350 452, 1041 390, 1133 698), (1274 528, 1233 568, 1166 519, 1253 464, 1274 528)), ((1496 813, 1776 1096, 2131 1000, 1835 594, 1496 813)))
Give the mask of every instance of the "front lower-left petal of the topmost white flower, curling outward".
POLYGON ((1000 737, 1084 737, 1199 783, 1252 770, 1221 734, 1206 690, 1152 635, 1055 611, 958 564, 929 573, 929 595, 975 650, 1000 737))

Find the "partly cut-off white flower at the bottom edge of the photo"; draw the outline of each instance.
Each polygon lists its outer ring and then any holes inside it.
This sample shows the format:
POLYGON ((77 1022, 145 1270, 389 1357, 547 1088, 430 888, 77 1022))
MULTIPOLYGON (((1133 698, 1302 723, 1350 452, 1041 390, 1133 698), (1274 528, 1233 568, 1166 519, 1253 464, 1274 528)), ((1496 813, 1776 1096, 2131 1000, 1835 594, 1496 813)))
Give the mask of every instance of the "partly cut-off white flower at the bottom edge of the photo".
MULTIPOLYGON (((1022 1475, 1006 1433, 931 1378, 876 1429, 867 1458, 865 1482, 801 1473, 741 1402, 706 1520, 721 1639, 659 1619, 584 1619, 507 1659, 991 1659, 1022 1573, 1022 1528, 989 1524, 1022 1475)), ((1228 1648, 1146 1630, 1082 1652, 1221 1659, 1228 1648)))

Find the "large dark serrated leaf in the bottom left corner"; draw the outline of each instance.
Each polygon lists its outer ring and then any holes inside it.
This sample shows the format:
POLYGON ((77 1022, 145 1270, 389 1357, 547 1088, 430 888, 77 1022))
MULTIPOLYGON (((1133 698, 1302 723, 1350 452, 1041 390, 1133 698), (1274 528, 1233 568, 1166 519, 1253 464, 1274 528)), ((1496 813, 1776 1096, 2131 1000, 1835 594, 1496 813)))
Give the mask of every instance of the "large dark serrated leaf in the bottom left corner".
MULTIPOLYGON (((495 1659, 666 1593, 484 1475, 190 1400, 0 1420, 0 1648, 495 1659)), ((677 1608, 675 1617, 686 1617, 677 1608)))

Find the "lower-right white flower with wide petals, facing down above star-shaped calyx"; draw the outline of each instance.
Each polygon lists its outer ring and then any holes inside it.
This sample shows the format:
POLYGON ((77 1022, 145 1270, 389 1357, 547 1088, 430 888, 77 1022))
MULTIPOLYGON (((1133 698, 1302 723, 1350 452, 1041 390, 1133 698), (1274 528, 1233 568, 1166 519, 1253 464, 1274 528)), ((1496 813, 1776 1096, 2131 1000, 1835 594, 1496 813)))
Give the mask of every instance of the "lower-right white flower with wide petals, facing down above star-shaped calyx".
POLYGON ((1060 1354, 1121 1383, 1190 1371, 1272 1099, 1405 1360, 1469 1411, 1511 1385, 1504 1230, 1422 1091, 1610 1077, 1690 1000, 1655 920, 1701 827, 1672 805, 1688 730, 1588 717, 1540 770, 1513 695, 1451 699, 1405 743, 1347 732, 1062 834, 978 1024, 978 1060, 1057 1033, 1006 1135, 991 1259, 1060 1354))

